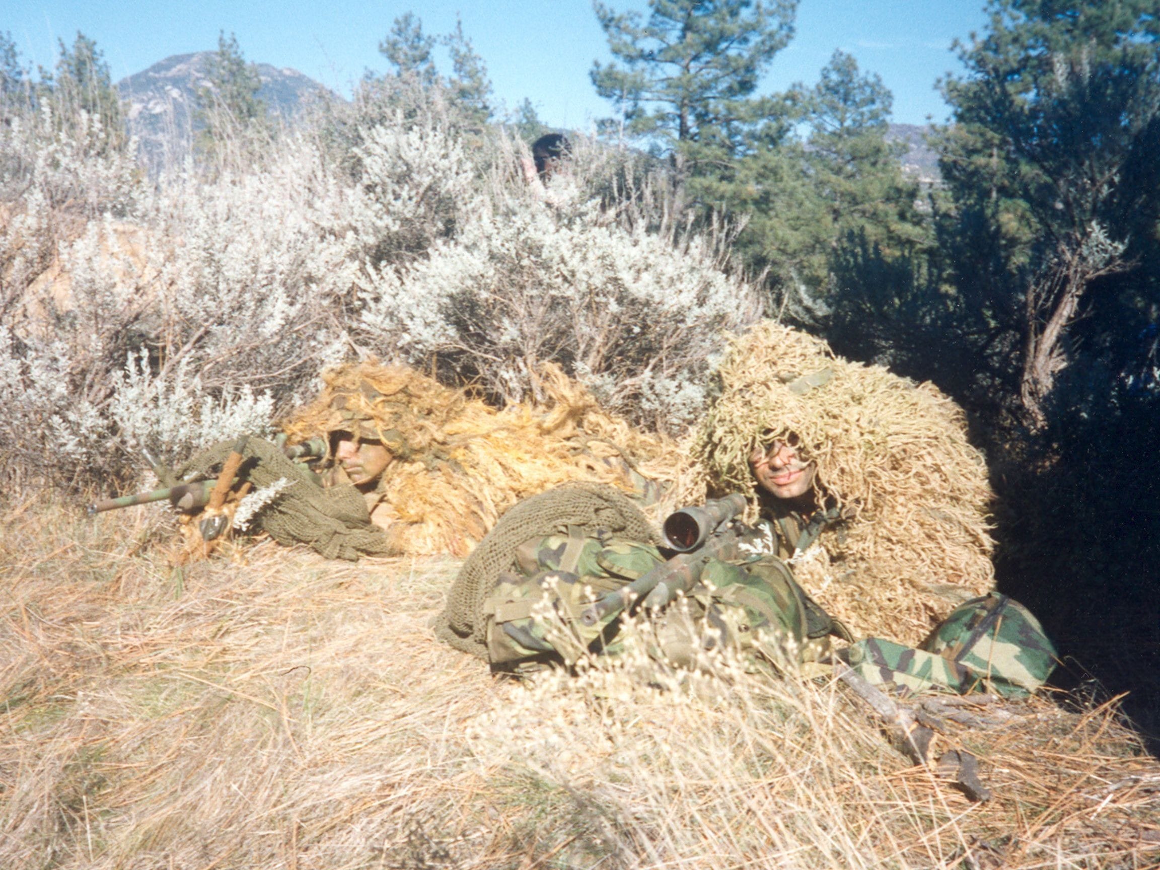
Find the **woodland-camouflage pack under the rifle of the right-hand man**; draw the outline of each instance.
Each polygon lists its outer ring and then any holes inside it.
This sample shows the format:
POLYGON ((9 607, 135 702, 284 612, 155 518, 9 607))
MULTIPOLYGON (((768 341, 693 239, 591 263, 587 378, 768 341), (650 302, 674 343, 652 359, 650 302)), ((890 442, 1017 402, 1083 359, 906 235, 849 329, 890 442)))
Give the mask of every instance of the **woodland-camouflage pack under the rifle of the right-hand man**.
MULTIPOLYGON (((583 655, 616 653, 619 615, 585 625, 581 612, 664 560, 652 544, 559 534, 525 542, 516 550, 485 603, 492 665, 524 672, 583 655)), ((718 646, 784 667, 815 660, 827 648, 828 622, 809 602, 789 568, 771 556, 745 564, 711 559, 702 582, 652 619, 652 652, 679 667, 697 667, 718 646)))

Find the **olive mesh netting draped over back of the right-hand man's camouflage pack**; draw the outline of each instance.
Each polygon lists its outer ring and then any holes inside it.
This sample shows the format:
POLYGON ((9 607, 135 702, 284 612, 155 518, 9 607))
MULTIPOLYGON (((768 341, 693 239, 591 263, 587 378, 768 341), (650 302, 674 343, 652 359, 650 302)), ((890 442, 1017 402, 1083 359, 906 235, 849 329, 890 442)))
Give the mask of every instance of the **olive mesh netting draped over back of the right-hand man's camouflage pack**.
POLYGON ((457 650, 487 658, 484 600, 500 572, 512 567, 516 548, 566 525, 597 529, 632 541, 660 542, 640 509, 622 492, 602 484, 578 483, 524 499, 500 520, 467 557, 448 590, 447 607, 435 617, 435 633, 457 650))

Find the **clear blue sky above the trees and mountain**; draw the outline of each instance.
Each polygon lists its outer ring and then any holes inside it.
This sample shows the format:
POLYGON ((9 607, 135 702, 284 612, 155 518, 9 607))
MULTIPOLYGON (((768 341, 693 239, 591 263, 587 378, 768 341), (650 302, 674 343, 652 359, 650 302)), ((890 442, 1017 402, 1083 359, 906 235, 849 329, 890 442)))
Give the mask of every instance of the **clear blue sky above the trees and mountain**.
MULTIPOLYGON (((645 0, 608 0, 646 9, 645 0)), ((935 81, 960 67, 951 42, 986 23, 984 0, 800 0, 797 34, 774 59, 764 92, 813 84, 835 49, 854 55, 894 93, 894 121, 947 117, 935 81)), ((364 70, 386 71, 378 43, 391 22, 415 13, 430 34, 464 34, 487 64, 508 108, 524 97, 553 126, 587 129, 610 114, 588 79, 593 60, 610 58, 588 0, 0 0, 26 65, 51 67, 57 41, 80 30, 104 52, 114 80, 168 57, 217 48, 234 32, 247 60, 289 66, 349 94, 364 70)))

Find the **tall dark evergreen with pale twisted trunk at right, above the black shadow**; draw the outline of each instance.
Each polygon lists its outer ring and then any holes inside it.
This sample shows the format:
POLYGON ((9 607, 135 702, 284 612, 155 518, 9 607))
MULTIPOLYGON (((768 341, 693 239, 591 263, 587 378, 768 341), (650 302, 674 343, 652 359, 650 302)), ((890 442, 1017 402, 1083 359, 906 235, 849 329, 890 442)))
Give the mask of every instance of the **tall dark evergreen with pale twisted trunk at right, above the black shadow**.
POLYGON ((988 31, 960 46, 966 74, 944 82, 956 124, 942 169, 967 267, 957 284, 972 319, 1017 348, 1010 377, 1042 426, 1085 309, 1117 312, 1102 319, 1115 332, 1154 293, 1139 266, 1155 261, 1160 215, 1160 17, 1152 0, 987 8, 988 31))

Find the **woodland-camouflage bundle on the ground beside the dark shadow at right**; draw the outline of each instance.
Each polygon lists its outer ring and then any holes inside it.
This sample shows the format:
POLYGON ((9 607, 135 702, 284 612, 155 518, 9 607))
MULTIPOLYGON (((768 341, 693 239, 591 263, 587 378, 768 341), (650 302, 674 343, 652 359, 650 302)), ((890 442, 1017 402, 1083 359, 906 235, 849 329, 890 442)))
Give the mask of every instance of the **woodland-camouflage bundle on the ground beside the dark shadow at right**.
POLYGON ((878 686, 1005 697, 1038 689, 1057 661, 1038 619, 995 592, 955 608, 919 648, 869 638, 851 645, 847 657, 857 673, 878 686))

